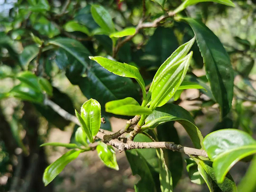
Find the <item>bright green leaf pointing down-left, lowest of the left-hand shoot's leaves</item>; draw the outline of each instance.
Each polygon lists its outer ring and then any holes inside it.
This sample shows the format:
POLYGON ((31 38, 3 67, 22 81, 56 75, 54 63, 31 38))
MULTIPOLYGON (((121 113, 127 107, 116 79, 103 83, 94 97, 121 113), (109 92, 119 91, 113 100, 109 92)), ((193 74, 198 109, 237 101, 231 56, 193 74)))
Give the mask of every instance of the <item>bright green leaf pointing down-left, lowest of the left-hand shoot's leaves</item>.
POLYGON ((44 185, 48 185, 54 178, 62 172, 67 164, 69 164, 72 160, 76 159, 78 155, 82 152, 82 150, 70 150, 58 158, 55 162, 50 164, 44 170, 43 182, 44 185))

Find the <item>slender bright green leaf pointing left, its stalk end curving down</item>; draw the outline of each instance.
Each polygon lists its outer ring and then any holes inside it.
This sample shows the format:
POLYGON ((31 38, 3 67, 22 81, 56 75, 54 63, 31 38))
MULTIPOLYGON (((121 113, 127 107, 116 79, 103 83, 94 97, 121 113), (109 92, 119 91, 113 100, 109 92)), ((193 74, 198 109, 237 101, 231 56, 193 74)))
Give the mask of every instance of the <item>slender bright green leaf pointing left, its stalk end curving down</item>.
POLYGON ((140 84, 140 87, 142 89, 143 98, 146 98, 146 89, 145 89, 145 83, 140 75, 140 72, 138 68, 131 66, 126 63, 120 63, 116 62, 104 57, 90 57, 91 60, 96 61, 98 64, 100 64, 102 67, 104 67, 106 70, 119 75, 123 77, 130 77, 135 78, 138 84, 140 84))

